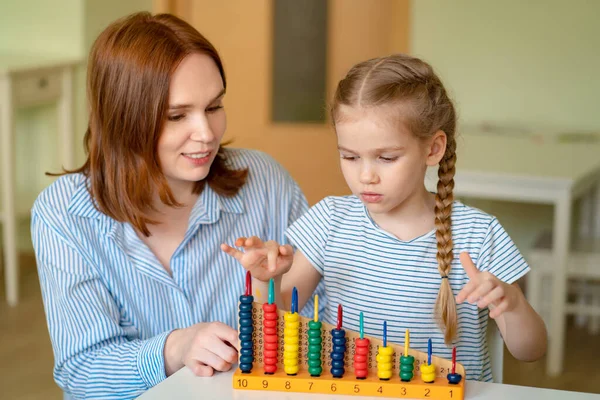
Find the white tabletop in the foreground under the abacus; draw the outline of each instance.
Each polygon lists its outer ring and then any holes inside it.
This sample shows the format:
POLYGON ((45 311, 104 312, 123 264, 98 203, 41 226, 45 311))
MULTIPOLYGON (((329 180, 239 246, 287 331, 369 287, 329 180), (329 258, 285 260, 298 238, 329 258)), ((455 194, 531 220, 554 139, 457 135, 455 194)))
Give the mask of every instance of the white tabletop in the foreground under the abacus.
MULTIPOLYGON (((381 397, 307 395, 306 393, 263 392, 234 390, 233 371, 219 373, 210 378, 198 378, 188 368, 148 390, 141 400, 162 399, 219 399, 219 400, 340 400, 340 399, 379 399, 381 397)), ((537 389, 526 386, 502 385, 497 383, 466 382, 465 399, 468 400, 598 400, 600 395, 591 393, 566 392, 562 390, 537 389)))

